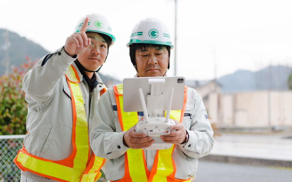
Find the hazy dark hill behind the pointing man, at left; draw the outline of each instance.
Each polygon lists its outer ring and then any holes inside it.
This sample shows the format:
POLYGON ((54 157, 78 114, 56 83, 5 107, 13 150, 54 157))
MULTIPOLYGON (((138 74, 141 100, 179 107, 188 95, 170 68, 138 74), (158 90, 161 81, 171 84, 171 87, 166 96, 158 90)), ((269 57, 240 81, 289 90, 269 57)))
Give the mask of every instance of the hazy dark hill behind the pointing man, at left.
MULTIPOLYGON (((19 66, 23 62, 26 62, 26 56, 31 60, 41 59, 43 56, 47 55, 49 51, 45 50, 41 45, 34 43, 26 39, 25 37, 20 37, 17 33, 8 32, 8 41, 10 46, 7 49, 5 46, 6 42, 6 30, 0 29, 0 76, 5 73, 5 56, 6 50, 8 50, 10 66, 19 66)), ((103 83, 109 88, 113 85, 122 83, 118 79, 114 79, 110 76, 104 76, 98 73, 99 77, 103 80, 103 83)))

